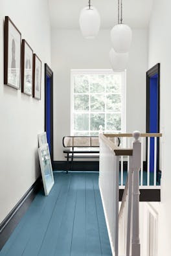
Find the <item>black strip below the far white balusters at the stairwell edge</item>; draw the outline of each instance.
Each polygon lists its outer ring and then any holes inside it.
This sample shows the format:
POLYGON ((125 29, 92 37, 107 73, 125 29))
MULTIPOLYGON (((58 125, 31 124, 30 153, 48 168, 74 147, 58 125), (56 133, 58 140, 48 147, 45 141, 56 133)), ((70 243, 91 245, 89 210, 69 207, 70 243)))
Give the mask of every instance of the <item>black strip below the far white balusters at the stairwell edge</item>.
MULTIPOLYGON (((119 201, 122 201, 124 189, 119 189, 119 201)), ((140 202, 161 202, 160 189, 140 189, 140 202)))

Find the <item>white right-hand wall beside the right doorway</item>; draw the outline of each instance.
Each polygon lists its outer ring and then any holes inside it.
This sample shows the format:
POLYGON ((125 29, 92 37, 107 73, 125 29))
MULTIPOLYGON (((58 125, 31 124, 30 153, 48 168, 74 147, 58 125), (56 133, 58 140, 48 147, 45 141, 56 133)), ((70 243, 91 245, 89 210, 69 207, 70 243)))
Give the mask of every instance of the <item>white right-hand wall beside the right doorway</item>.
POLYGON ((170 255, 171 251, 171 196, 170 196, 170 145, 171 145, 171 86, 170 86, 170 56, 171 56, 171 30, 170 30, 170 0, 155 0, 152 9, 149 29, 149 61, 148 67, 161 63, 161 132, 164 131, 162 146, 162 187, 161 209, 159 214, 159 253, 170 255))

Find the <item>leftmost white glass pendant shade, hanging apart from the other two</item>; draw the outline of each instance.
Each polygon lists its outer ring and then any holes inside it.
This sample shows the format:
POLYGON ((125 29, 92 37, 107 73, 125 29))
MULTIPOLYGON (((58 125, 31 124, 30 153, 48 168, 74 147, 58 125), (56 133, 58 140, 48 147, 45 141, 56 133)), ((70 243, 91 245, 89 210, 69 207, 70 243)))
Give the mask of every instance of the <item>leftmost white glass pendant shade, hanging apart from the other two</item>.
POLYGON ((100 29, 100 15, 94 6, 86 6, 80 13, 80 29, 84 38, 93 39, 100 29))

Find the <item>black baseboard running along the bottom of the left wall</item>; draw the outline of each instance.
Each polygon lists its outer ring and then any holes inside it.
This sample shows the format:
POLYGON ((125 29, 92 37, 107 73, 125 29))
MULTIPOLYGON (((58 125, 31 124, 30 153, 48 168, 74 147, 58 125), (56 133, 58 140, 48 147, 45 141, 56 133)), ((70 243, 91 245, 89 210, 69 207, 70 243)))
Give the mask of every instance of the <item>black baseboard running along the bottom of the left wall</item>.
POLYGON ((15 227, 21 220, 22 216, 27 211, 29 205, 32 200, 34 200, 36 194, 40 190, 42 185, 41 177, 38 178, 34 182, 34 184, 28 189, 28 191, 23 195, 21 200, 16 204, 16 206, 10 211, 10 213, 6 216, 5 220, 0 224, 0 250, 5 245, 5 242, 10 237, 12 231, 14 231, 15 227))

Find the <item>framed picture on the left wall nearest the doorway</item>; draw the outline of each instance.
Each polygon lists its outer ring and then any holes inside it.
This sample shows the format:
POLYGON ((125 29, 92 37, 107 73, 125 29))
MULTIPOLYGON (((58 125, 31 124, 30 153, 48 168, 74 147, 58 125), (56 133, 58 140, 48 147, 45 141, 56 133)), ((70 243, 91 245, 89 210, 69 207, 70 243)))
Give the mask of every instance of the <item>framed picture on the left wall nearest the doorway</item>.
POLYGON ((41 60, 36 54, 33 54, 33 90, 32 96, 35 99, 41 99, 41 60))

